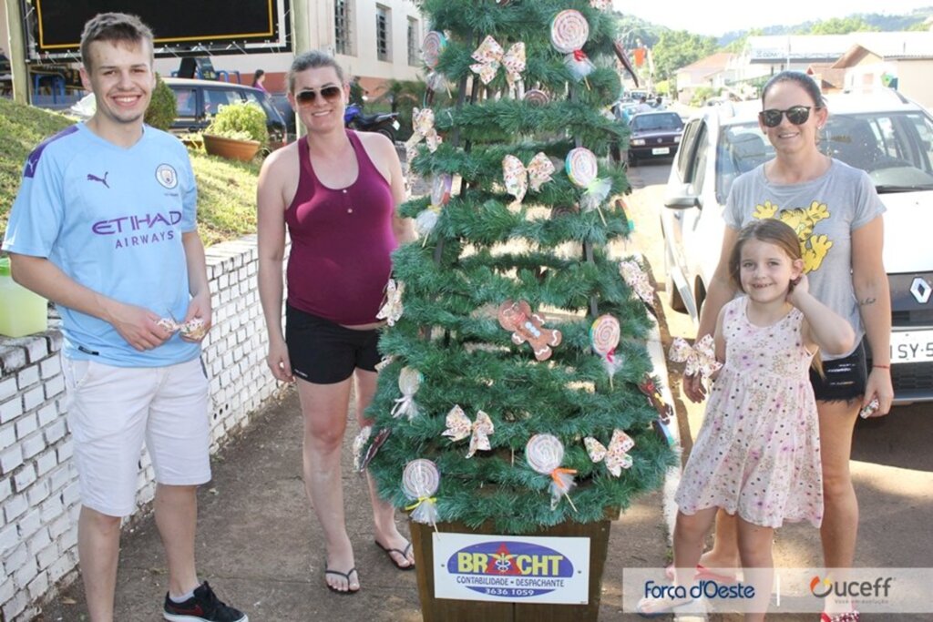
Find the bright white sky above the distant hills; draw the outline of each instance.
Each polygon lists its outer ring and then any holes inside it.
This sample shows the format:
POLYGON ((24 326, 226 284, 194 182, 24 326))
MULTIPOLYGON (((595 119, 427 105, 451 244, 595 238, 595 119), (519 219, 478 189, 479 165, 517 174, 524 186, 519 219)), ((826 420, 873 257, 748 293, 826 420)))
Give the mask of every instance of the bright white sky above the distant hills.
POLYGON ((672 30, 724 35, 734 30, 794 25, 852 13, 903 15, 933 0, 613 0, 616 10, 672 30), (779 7, 771 10, 769 7, 779 7))

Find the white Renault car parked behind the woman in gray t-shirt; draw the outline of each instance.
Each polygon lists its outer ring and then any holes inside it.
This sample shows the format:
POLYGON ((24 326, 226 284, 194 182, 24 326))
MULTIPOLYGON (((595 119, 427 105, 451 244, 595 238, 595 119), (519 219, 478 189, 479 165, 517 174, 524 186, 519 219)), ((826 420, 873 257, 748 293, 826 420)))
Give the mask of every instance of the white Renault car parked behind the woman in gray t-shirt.
MULTIPOLYGON (((820 148, 867 171, 884 201, 895 401, 933 400, 933 116, 898 92, 827 95, 820 148)), ((694 321, 713 278, 732 181, 773 157, 759 101, 690 118, 661 210, 671 306, 694 321), (671 285, 673 283, 673 286, 671 285)))

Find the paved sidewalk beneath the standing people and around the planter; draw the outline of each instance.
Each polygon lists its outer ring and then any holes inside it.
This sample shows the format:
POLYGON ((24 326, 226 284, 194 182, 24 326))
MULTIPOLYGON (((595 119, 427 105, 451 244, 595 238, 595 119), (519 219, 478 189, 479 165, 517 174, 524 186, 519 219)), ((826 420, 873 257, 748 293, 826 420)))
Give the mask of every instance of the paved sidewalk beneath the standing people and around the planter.
MULTIPOLYGON (((347 523, 362 588, 352 597, 327 591, 322 535, 301 482, 298 398, 289 393, 260 412, 214 459, 214 479, 199 492, 198 563, 202 579, 251 622, 417 622, 422 619, 414 572, 399 572, 372 542, 365 482, 352 472, 351 416, 344 451, 347 523)), ((645 496, 613 524, 600 620, 621 614, 621 569, 659 566, 667 551, 661 492, 645 496)), ((405 518, 399 518, 403 523, 405 518)), ((404 528, 407 532, 407 527, 404 528)), ((125 532, 120 553, 116 619, 161 620, 166 590, 159 535, 151 517, 125 532)), ((86 617, 80 579, 50 602, 43 622, 86 617)), ((494 622, 492 620, 488 622, 494 622)))

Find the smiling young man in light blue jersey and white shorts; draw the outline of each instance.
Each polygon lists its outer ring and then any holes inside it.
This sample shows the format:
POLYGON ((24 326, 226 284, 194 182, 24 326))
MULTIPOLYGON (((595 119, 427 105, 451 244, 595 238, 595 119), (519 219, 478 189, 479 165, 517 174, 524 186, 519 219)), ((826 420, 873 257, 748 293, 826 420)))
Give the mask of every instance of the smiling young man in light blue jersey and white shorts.
POLYGON ((144 125, 155 88, 145 24, 122 13, 94 17, 81 37, 81 60, 97 110, 29 156, 3 249, 13 278, 62 314, 81 491, 78 555, 91 621, 114 619, 120 518, 135 506, 145 438, 168 562, 162 615, 246 622, 195 570, 195 491, 211 477, 200 358, 211 294, 188 152, 144 125))

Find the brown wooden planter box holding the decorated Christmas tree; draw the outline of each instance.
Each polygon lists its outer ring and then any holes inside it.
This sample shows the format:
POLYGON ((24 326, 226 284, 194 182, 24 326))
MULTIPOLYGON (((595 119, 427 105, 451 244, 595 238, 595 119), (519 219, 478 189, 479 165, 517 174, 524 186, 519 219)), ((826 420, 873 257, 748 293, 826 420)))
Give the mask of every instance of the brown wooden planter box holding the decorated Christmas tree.
MULTIPOLYGON (((618 513, 616 513, 618 516, 618 513)), ((434 596, 434 528, 410 522, 414 545, 418 595, 425 622, 596 622, 606 566, 611 521, 600 520, 585 525, 568 522, 542 529, 529 536, 585 537, 590 539, 590 591, 587 604, 552 604, 532 602, 458 601, 434 596)), ((492 525, 470 529, 462 523, 438 523, 439 532, 496 534, 492 525)), ((508 535, 506 536, 508 537, 508 535)))

